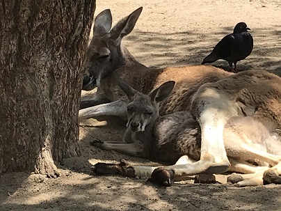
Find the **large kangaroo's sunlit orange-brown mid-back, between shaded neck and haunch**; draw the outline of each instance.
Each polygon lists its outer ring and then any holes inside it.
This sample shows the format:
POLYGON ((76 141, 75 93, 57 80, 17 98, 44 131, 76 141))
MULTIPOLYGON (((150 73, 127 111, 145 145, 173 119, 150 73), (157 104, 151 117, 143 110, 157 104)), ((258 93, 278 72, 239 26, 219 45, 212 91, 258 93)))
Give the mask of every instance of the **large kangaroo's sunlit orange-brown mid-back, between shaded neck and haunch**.
POLYGON ((231 72, 205 65, 166 68, 157 77, 153 88, 168 80, 175 81, 176 84, 169 97, 161 102, 160 114, 191 109, 192 97, 200 86, 219 81, 230 75, 232 75, 231 72))

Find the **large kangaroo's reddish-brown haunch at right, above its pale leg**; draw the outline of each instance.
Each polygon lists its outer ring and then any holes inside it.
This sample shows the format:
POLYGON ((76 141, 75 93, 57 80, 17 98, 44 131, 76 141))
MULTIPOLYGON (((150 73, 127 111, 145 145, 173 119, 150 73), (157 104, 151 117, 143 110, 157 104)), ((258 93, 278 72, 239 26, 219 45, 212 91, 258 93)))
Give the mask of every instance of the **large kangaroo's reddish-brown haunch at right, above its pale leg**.
POLYGON ((237 114, 273 122, 281 129, 281 78, 277 75, 266 70, 248 70, 204 84, 194 96, 193 111, 208 100, 208 92, 220 95, 217 104, 225 99, 237 114))

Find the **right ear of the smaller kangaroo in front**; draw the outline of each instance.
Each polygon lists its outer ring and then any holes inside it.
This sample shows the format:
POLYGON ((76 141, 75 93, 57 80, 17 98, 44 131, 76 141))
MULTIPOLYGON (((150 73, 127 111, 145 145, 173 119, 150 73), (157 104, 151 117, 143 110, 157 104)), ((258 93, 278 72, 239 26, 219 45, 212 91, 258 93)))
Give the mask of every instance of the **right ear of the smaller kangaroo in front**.
POLYGON ((167 81, 159 88, 154 89, 149 95, 152 102, 161 102, 165 100, 175 86, 175 81, 167 81))

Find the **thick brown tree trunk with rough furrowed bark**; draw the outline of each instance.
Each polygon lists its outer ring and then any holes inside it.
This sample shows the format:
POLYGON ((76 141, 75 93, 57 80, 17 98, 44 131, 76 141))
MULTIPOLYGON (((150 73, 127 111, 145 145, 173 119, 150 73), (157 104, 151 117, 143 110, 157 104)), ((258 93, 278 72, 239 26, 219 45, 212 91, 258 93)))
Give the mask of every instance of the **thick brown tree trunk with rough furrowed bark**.
POLYGON ((0 1, 0 174, 56 175, 79 155, 81 65, 95 0, 0 1))

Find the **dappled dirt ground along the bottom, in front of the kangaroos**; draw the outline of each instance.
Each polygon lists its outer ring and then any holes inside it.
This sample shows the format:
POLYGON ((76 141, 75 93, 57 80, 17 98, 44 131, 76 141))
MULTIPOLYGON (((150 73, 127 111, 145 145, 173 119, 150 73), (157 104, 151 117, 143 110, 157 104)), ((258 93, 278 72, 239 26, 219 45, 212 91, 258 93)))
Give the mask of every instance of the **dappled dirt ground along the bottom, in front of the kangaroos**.
POLYGON ((78 174, 71 172, 56 180, 31 175, 14 183, 19 187, 9 192, 8 200, 0 199, 0 210, 278 210, 281 201, 280 187, 275 185, 238 189, 175 184, 165 188, 113 176, 80 173, 77 179, 78 174))

